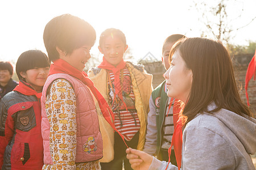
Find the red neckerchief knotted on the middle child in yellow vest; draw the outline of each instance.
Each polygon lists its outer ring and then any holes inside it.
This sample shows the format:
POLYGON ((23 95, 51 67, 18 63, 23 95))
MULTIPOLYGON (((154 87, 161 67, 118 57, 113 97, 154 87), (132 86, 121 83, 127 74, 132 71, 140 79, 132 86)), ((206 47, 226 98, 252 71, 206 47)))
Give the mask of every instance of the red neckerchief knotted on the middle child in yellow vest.
MULTIPOLYGON (((126 66, 126 62, 123 61, 123 59, 121 62, 118 63, 117 66, 113 66, 108 61, 106 61, 105 57, 103 57, 103 61, 100 63, 100 65, 98 65, 99 68, 110 70, 114 73, 114 84, 115 84, 114 99, 115 99, 115 96, 118 96, 119 99, 122 100, 122 102, 123 102, 122 86, 121 86, 119 76, 120 76, 120 71, 122 69, 124 69, 125 66, 126 66)), ((113 99, 113 101, 114 101, 114 99, 113 99)), ((126 104, 124 102, 123 102, 123 104, 126 107, 126 104)))

